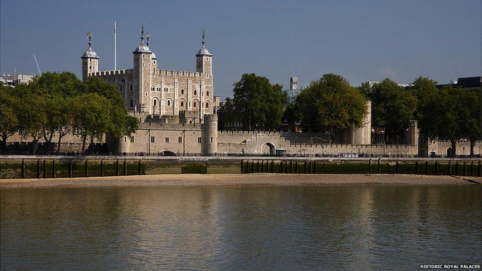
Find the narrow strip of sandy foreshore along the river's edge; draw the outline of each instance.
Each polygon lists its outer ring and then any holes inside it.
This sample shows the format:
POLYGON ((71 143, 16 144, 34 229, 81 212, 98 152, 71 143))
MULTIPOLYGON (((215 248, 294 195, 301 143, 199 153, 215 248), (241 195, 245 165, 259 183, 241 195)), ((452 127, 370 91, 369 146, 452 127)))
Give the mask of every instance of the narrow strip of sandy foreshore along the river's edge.
POLYGON ((480 184, 480 177, 385 174, 165 174, 58 179, 3 179, 0 188, 160 187, 160 186, 317 186, 339 184, 480 184))

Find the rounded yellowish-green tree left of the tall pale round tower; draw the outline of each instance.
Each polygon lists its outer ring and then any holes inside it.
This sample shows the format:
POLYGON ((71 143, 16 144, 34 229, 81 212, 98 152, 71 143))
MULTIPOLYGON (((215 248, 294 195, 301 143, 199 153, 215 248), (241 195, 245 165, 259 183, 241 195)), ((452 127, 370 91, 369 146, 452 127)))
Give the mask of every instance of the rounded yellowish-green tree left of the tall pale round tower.
POLYGON ((301 91, 294 111, 295 118, 312 130, 326 128, 333 142, 340 129, 363 126, 367 106, 365 97, 348 80, 325 74, 301 91))

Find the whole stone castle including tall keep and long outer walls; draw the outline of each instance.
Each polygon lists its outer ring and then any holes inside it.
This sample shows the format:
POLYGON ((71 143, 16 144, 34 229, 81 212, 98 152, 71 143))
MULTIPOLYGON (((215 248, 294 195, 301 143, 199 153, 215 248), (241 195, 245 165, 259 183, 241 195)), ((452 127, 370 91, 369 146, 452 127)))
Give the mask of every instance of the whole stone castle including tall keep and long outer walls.
MULTIPOLYGON (((196 72, 159 69, 160 64, 149 48, 149 34, 141 31, 141 42, 133 50, 133 69, 99 71, 99 56, 91 46, 82 54, 82 79, 101 77, 118 87, 130 114, 140 120, 139 129, 130 136, 113 139, 106 136, 108 152, 113 155, 340 155, 374 156, 447 155, 449 142, 419 138, 417 121, 406 131, 405 144, 371 145, 371 102, 361 128, 347 129, 328 142, 323 133, 218 131, 213 96, 212 57, 205 47, 196 53, 196 72), (144 42, 146 39, 146 42, 144 42)), ((10 142, 29 142, 12 136, 10 142)), ((30 140, 31 141, 31 140, 30 140)), ((65 137, 61 151, 81 150, 80 138, 65 137)), ((102 143, 102 142, 100 142, 102 143)), ((100 144, 97 143, 97 144, 100 144)), ((457 144, 456 155, 468 155, 470 143, 457 144)), ((476 142, 475 154, 481 154, 476 142)))

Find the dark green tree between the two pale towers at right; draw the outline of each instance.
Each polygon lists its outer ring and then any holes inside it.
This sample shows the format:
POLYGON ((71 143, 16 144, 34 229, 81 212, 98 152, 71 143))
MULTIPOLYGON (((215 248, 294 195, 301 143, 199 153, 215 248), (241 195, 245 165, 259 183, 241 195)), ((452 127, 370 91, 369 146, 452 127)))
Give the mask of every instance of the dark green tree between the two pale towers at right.
POLYGON ((416 97, 389 78, 371 86, 365 83, 361 89, 371 100, 372 126, 384 128, 385 144, 399 143, 404 138, 408 121, 414 117, 416 97))

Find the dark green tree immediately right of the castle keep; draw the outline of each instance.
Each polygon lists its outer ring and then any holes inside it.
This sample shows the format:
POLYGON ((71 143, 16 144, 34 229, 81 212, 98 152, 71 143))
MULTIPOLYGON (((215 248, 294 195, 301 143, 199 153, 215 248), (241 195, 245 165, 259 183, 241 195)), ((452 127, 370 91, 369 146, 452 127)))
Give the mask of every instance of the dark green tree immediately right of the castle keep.
POLYGON ((287 95, 266 77, 244 74, 234 83, 234 98, 224 113, 241 121, 244 129, 279 129, 287 95))

